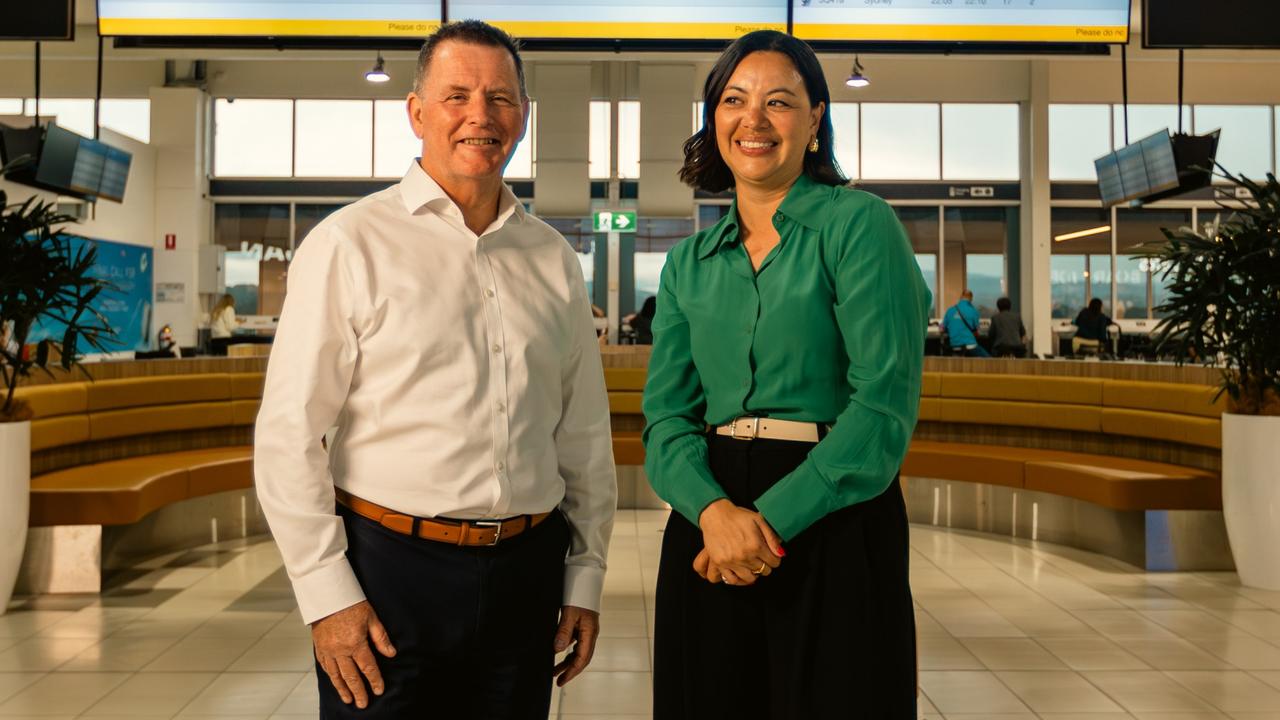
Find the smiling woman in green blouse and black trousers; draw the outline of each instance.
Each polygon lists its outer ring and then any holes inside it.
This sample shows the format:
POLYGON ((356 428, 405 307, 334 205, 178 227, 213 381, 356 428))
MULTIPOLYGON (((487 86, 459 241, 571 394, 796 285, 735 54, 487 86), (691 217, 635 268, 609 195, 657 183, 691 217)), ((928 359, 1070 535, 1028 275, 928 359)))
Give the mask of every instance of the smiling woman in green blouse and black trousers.
POLYGON ((704 97, 681 178, 736 199, 671 251, 653 320, 654 717, 914 719, 896 474, 929 292, 888 205, 841 187, 809 46, 746 35, 704 97))

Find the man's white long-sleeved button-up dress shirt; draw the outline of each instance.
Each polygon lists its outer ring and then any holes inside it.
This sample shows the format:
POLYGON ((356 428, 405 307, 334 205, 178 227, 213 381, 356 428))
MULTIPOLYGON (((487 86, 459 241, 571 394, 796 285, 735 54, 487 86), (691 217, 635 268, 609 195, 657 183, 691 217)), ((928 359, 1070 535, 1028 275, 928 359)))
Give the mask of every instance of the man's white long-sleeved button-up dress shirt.
POLYGON ((599 610, 617 483, 573 250, 507 187, 476 236, 417 163, 329 215, 289 266, 253 466, 306 623, 365 598, 334 486, 424 518, 558 506, 563 602, 599 610))

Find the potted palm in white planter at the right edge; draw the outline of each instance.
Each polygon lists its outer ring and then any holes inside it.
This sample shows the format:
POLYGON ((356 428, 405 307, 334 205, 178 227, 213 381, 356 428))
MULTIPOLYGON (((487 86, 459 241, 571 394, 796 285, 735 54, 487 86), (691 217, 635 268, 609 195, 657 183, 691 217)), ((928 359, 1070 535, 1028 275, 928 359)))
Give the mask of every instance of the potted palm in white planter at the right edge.
POLYGON ((1280 183, 1222 177, 1249 200, 1139 254, 1169 292, 1157 351, 1222 370, 1222 516, 1240 582, 1280 591, 1280 183))

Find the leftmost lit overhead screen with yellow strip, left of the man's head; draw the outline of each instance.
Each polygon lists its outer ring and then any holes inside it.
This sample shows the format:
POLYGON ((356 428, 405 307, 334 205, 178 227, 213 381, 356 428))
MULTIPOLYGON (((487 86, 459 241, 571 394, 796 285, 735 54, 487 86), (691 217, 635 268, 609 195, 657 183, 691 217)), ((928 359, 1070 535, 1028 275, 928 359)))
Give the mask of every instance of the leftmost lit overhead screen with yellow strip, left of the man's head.
POLYGON ((440 0, 97 0, 105 36, 425 37, 440 0))

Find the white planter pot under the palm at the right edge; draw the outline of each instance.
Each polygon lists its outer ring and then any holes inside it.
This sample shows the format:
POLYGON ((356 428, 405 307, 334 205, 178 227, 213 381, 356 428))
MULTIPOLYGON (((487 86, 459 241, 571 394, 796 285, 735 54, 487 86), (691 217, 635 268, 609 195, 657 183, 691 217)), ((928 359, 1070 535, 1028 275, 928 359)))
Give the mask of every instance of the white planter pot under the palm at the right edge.
POLYGON ((1280 418, 1222 414, 1222 519, 1240 582, 1280 591, 1280 418))

